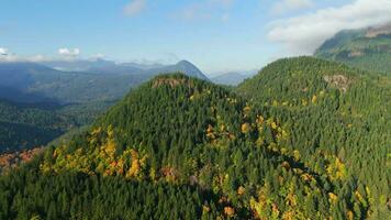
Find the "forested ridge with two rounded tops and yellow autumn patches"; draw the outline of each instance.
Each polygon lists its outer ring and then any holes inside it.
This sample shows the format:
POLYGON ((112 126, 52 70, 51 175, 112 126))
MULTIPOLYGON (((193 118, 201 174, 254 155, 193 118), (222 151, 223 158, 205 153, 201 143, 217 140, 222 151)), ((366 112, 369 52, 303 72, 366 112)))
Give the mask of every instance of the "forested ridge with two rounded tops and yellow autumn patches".
POLYGON ((386 219, 391 79, 311 57, 143 84, 0 177, 0 219, 386 219))

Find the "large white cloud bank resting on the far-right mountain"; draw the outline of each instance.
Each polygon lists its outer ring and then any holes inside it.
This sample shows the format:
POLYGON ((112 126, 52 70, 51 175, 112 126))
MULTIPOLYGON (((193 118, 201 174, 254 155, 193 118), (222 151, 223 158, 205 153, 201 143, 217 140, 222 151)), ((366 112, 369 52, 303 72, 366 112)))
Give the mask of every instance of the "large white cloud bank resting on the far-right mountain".
POLYGON ((355 0, 339 7, 270 23, 268 37, 282 43, 289 55, 312 54, 325 40, 345 29, 361 29, 391 21, 390 0, 355 0))

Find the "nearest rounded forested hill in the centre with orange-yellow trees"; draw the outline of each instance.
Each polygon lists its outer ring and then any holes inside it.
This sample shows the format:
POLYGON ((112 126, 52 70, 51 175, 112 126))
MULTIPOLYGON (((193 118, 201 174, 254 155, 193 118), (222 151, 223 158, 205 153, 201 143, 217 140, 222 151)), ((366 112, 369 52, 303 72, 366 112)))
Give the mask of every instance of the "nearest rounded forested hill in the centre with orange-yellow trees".
POLYGON ((289 147, 286 125, 266 114, 208 81, 156 77, 89 131, 0 177, 0 217, 342 219, 367 213, 370 195, 339 190, 350 186, 344 164, 328 155, 324 166, 336 173, 309 167, 301 152, 289 147))

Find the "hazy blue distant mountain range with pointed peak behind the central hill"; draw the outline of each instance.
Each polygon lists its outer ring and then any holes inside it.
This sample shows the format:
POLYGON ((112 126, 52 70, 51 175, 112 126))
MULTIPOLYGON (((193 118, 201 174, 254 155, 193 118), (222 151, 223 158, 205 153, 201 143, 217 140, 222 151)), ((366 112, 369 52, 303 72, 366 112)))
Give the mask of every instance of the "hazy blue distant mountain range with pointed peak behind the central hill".
POLYGON ((180 72, 209 80, 193 64, 116 64, 110 61, 0 63, 0 98, 20 102, 91 102, 122 98, 158 74, 180 72))

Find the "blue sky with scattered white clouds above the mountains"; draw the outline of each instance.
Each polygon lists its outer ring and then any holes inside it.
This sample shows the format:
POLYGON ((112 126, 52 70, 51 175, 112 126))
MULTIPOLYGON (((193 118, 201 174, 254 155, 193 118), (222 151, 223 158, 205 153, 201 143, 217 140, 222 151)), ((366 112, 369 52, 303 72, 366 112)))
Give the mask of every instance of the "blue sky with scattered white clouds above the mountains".
POLYGON ((0 59, 187 59, 209 74, 249 70, 390 21, 391 0, 2 0, 0 59))

